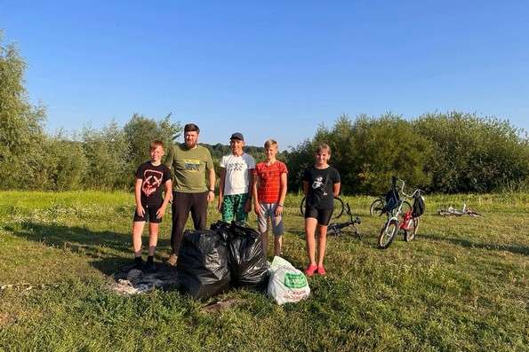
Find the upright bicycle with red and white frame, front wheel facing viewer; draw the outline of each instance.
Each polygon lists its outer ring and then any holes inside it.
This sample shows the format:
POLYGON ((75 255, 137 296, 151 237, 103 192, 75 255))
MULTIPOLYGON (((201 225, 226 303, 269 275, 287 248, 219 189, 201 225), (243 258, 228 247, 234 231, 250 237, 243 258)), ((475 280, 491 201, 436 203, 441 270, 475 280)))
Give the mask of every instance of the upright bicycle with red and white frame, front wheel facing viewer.
MULTIPOLYGON (((415 199, 415 201, 417 201, 417 198, 422 197, 421 192, 423 191, 420 189, 413 191, 412 195, 406 194, 404 191, 405 182, 398 178, 396 178, 396 180, 400 181, 401 183, 400 193, 403 194, 407 199, 415 199)), ((396 182, 394 182, 393 186, 395 185, 396 182)), ((417 230, 419 229, 420 215, 413 216, 412 207, 410 207, 410 209, 407 211, 403 211, 404 204, 405 201, 399 199, 397 208, 387 212, 388 221, 382 227, 381 235, 379 236, 380 248, 388 248, 389 245, 391 245, 393 239, 395 239, 397 236, 399 230, 404 231, 404 239, 406 242, 410 242, 415 238, 417 230)))

